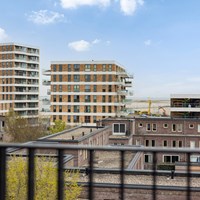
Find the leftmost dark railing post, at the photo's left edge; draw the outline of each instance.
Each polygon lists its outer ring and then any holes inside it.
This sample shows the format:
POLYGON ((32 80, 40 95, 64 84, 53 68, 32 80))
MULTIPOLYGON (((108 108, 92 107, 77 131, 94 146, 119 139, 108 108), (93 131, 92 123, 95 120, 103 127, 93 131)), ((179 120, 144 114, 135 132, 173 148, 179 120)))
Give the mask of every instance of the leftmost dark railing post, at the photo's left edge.
POLYGON ((6 148, 0 148, 0 199, 6 199, 6 148))

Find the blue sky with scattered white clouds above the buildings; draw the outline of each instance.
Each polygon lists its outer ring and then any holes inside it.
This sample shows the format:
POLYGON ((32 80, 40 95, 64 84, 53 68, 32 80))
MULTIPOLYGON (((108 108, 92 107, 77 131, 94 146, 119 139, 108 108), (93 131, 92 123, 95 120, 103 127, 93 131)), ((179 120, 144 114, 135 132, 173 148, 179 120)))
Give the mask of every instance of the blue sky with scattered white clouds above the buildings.
POLYGON ((41 70, 58 60, 116 60, 134 75, 135 97, 194 94, 199 8, 199 0, 5 0, 0 42, 39 47, 41 70))

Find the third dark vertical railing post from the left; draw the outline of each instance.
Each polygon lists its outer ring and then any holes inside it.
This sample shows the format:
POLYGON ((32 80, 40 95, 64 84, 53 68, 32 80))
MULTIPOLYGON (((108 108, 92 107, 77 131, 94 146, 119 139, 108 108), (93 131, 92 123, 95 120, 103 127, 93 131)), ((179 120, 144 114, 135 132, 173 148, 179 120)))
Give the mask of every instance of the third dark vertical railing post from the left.
POLYGON ((63 155, 62 149, 58 150, 58 200, 64 199, 64 176, 63 176, 63 155))

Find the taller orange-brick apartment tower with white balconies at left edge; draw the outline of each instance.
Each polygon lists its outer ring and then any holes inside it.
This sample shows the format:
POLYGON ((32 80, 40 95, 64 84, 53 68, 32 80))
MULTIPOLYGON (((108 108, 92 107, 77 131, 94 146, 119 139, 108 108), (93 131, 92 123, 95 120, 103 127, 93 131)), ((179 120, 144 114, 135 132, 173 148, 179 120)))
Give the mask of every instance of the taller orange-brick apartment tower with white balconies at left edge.
POLYGON ((0 114, 10 108, 23 117, 39 112, 39 49, 16 43, 0 44, 0 114))

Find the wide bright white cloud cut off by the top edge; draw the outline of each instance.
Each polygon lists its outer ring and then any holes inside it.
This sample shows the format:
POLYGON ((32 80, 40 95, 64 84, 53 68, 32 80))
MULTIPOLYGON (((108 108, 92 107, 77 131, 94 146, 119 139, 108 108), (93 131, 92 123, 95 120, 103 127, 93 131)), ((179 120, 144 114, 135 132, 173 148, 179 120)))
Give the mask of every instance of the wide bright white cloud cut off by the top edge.
POLYGON ((107 7, 111 0, 60 0, 61 6, 66 9, 75 9, 79 6, 101 6, 107 7))

